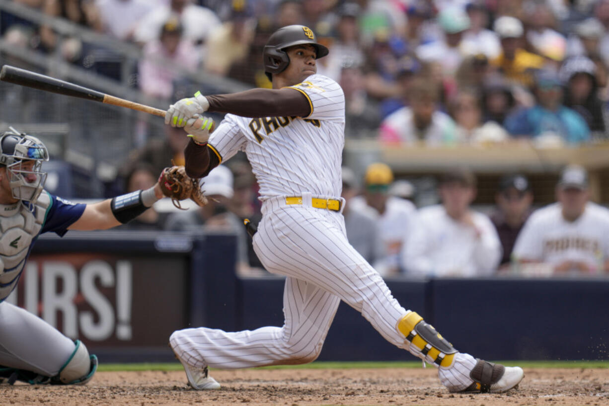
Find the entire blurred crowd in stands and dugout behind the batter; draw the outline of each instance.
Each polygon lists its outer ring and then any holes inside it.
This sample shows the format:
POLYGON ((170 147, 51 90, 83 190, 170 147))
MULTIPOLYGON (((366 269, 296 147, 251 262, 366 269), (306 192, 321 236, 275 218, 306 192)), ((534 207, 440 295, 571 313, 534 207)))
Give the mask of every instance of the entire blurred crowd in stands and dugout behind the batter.
MULTIPOLYGON (((278 27, 303 24, 330 50, 318 73, 343 88, 347 138, 540 148, 607 140, 609 0, 13 1, 139 47, 132 85, 167 103, 197 90, 185 73, 270 87, 264 43, 278 27)), ((0 34, 114 79, 125 74, 112 49, 7 12, 0 34)), ((183 162, 186 137, 165 131, 132 152, 121 169, 125 190, 145 189, 168 162, 183 162)), ((208 206, 150 209, 124 227, 233 230, 239 273, 264 274, 242 226, 259 218, 256 182, 247 160, 228 165, 203 179, 208 206)), ((437 204, 428 205, 413 202, 415 185, 384 163, 363 179, 351 169, 343 168, 348 238, 383 276, 609 270, 609 211, 589 201, 583 168, 566 168, 557 201, 535 211, 529 180, 505 176, 485 213, 471 208, 476 176, 465 168, 440 177, 437 204)))

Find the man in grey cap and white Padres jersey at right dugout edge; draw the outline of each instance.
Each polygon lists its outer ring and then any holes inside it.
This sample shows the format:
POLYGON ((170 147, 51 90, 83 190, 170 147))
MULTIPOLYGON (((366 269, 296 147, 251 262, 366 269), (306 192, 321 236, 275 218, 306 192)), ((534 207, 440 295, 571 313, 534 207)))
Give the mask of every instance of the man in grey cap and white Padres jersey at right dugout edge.
POLYGON ((516 239, 513 260, 524 273, 602 274, 609 270, 609 210, 589 201, 588 175, 568 166, 557 202, 533 212, 516 239))

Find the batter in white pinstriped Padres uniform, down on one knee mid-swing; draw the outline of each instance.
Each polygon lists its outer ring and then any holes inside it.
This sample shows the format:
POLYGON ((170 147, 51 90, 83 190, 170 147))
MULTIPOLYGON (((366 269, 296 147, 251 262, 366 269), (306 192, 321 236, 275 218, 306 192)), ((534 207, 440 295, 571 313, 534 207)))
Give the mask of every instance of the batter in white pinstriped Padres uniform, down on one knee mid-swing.
POLYGON ((262 220, 253 245, 262 264, 286 276, 283 327, 224 332, 200 327, 169 338, 197 390, 216 389, 212 368, 308 363, 319 355, 342 300, 390 343, 438 367, 451 392, 504 392, 523 379, 519 367, 458 352, 417 313, 392 296, 378 272, 351 247, 340 198, 345 98, 340 86, 316 74, 328 55, 311 29, 287 26, 264 47, 272 89, 181 99, 165 122, 185 127, 186 172, 202 177, 245 151, 260 186, 262 220), (209 135, 194 127, 202 113, 228 113, 209 135))

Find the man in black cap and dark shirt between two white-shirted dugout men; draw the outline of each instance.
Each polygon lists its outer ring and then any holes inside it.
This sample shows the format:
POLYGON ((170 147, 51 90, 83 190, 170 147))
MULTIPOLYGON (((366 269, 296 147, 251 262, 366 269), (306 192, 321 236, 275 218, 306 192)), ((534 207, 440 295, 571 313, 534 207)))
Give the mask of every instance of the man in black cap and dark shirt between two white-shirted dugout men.
POLYGON ((533 193, 529 180, 521 174, 504 176, 499 182, 495 202, 497 207, 491 215, 491 221, 497 229, 503 248, 500 266, 505 268, 510 264, 516 237, 531 212, 533 193))

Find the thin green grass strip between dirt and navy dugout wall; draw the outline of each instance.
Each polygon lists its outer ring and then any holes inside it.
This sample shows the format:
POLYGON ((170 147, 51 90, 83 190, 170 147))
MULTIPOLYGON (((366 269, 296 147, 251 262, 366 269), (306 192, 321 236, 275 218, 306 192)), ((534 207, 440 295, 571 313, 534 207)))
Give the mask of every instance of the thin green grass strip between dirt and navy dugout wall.
MULTIPOLYGON (((609 368, 609 361, 498 361, 504 365, 523 368, 609 368)), ((265 366, 263 369, 354 369, 354 368, 421 368, 420 361, 315 361, 305 365, 265 366)), ((428 366, 428 368, 433 368, 428 366)), ((104 364, 100 363, 98 371, 181 371, 178 362, 171 363, 133 363, 104 364)))

